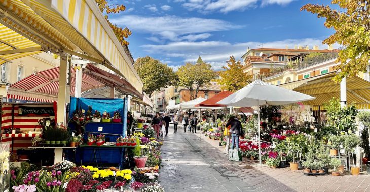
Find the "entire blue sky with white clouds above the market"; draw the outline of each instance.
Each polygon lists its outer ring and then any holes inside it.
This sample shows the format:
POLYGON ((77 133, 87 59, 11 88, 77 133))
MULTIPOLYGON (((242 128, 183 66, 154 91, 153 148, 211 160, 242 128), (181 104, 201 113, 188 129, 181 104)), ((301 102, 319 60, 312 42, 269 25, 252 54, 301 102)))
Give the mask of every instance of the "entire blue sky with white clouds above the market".
MULTIPOLYGON (((121 2, 121 1, 120 1, 121 2)), ((129 49, 134 59, 151 56, 175 70, 201 55, 215 70, 229 56, 237 59, 248 47, 322 45, 334 31, 324 19, 300 8, 330 4, 328 0, 132 0, 126 11, 110 21, 128 27, 129 49)))

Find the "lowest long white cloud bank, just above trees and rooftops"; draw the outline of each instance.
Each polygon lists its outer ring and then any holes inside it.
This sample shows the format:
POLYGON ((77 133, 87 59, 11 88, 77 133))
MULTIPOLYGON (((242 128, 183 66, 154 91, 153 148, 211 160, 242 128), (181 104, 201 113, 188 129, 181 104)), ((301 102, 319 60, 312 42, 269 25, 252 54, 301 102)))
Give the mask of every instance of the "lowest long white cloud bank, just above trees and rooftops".
MULTIPOLYGON (((201 41, 201 42, 171 42, 164 45, 147 44, 142 45, 144 51, 153 54, 162 54, 165 57, 178 57, 183 62, 196 62, 199 54, 203 61, 212 65, 215 70, 220 70, 226 65, 226 61, 230 56, 236 59, 241 59, 250 47, 259 47, 261 42, 241 42, 229 43, 224 41, 201 41)), ((264 47, 285 48, 288 46, 293 49, 295 45, 308 45, 311 49, 314 45, 319 45, 320 49, 327 49, 327 45, 322 45, 321 39, 306 38, 306 39, 285 39, 280 41, 263 42, 264 47)), ((339 45, 336 45, 339 47, 339 45)))

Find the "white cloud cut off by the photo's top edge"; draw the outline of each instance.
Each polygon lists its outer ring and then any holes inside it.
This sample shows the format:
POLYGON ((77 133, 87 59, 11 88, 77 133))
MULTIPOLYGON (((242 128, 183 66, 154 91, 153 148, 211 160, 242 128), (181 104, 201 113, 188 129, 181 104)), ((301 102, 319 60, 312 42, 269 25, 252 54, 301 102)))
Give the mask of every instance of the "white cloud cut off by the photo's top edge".
POLYGON ((278 4, 286 5, 295 0, 187 0, 181 1, 182 6, 189 11, 197 10, 202 13, 230 11, 243 11, 248 8, 255 8, 261 3, 261 6, 278 4))

